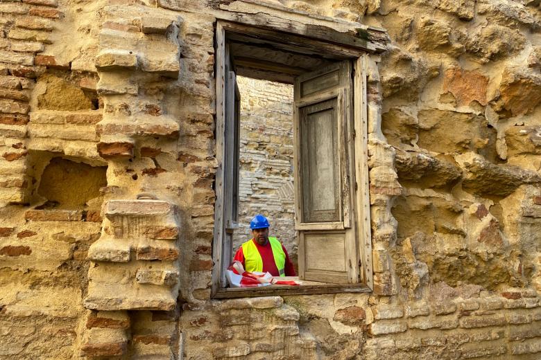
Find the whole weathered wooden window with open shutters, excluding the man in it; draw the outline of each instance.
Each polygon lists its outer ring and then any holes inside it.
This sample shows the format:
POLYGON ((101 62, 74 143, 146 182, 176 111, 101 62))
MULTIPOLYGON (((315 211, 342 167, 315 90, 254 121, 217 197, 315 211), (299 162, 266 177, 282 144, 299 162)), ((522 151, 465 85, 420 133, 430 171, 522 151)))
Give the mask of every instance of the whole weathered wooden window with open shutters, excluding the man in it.
POLYGON ((368 184, 366 145, 355 141, 357 132, 366 141, 366 79, 354 75, 365 73, 363 54, 292 46, 274 33, 266 39, 250 33, 256 28, 232 27, 218 22, 216 29, 213 296, 244 290, 225 289, 225 269, 251 239, 257 213, 269 217, 270 236, 314 292, 369 291, 368 194, 358 194, 356 183, 368 184), (276 89, 289 89, 289 98, 276 89))

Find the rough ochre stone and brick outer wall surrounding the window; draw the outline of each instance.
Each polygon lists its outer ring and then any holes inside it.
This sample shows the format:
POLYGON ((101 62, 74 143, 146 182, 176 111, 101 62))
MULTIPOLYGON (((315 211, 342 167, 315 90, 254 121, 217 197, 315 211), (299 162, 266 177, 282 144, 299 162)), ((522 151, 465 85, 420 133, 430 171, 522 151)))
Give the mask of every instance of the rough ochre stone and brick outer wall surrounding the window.
POLYGON ((540 6, 1 1, 0 359, 538 359, 540 6), (370 294, 210 299, 219 11, 388 30, 370 294))

